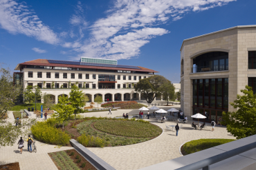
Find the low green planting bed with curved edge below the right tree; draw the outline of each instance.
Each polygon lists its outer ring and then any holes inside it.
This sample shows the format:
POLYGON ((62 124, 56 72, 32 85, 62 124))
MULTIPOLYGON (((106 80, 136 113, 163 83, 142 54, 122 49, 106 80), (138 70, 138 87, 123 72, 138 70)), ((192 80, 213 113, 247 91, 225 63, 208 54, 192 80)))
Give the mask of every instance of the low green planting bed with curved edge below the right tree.
POLYGON ((202 151, 204 149, 209 149, 210 147, 216 147, 227 142, 232 142, 234 139, 199 139, 186 142, 181 147, 181 153, 183 156, 190 153, 195 153, 197 151, 202 151))

